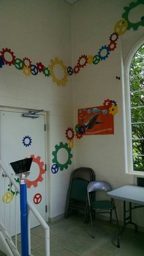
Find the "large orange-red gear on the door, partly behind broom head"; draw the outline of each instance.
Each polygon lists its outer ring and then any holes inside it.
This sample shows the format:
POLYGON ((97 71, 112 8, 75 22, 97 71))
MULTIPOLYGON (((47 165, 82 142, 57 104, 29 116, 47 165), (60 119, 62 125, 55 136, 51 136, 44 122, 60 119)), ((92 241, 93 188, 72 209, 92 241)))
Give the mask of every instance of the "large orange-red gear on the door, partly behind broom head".
POLYGON ((28 180, 27 179, 27 188, 31 188, 31 186, 33 185, 35 188, 38 186, 37 183, 38 181, 43 181, 43 177, 42 175, 45 174, 45 169, 43 169, 44 163, 40 162, 40 156, 37 156, 37 158, 35 158, 34 155, 31 155, 32 158, 32 162, 37 163, 39 168, 40 168, 40 174, 38 175, 38 177, 36 178, 36 180, 28 180))

